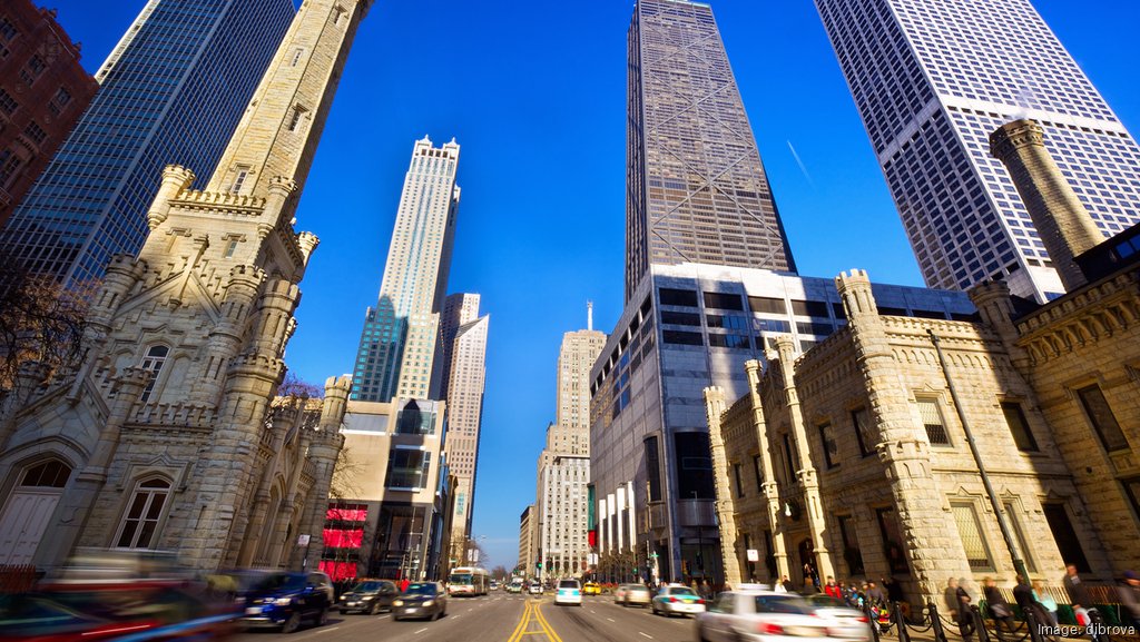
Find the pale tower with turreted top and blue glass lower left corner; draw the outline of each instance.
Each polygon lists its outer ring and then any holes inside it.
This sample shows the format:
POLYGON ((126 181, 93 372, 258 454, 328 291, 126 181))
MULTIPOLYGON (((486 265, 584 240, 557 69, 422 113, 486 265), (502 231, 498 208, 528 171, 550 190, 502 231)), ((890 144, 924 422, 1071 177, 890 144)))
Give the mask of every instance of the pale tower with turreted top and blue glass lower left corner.
POLYGON ((425 136, 412 149, 380 301, 365 314, 353 399, 429 398, 459 206, 458 162, 454 139, 435 148, 425 136))

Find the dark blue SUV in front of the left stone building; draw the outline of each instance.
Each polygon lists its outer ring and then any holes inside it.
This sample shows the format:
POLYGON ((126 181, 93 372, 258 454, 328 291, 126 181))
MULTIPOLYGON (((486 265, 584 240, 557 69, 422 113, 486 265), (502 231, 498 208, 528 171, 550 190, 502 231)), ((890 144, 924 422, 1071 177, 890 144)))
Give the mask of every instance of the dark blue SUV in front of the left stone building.
POLYGON ((323 572, 272 572, 258 583, 245 600, 243 626, 279 627, 293 633, 306 619, 317 626, 328 621, 335 608, 333 583, 323 572))

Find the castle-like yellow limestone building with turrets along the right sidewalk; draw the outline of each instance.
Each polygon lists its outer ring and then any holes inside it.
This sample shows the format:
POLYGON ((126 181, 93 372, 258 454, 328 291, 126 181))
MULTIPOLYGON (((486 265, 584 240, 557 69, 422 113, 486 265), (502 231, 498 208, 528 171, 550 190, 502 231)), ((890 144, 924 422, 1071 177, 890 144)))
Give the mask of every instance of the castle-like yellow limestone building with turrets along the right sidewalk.
POLYGON ((777 339, 735 403, 706 390, 726 580, 800 583, 811 563, 925 601, 950 577, 1011 583, 1012 546, 1034 578, 1135 568, 1137 273, 1028 312, 1004 284, 980 285, 972 322, 882 315, 865 274, 840 275, 846 327, 804 353, 777 339))

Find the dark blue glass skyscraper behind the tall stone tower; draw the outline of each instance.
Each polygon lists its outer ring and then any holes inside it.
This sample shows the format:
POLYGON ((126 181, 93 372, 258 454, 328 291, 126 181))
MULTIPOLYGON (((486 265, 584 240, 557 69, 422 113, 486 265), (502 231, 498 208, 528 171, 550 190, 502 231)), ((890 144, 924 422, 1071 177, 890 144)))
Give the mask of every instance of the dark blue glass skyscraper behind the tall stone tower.
POLYGON ((213 173, 294 14, 292 0, 150 0, 13 212, 0 251, 64 283, 138 252, 163 166, 213 173))

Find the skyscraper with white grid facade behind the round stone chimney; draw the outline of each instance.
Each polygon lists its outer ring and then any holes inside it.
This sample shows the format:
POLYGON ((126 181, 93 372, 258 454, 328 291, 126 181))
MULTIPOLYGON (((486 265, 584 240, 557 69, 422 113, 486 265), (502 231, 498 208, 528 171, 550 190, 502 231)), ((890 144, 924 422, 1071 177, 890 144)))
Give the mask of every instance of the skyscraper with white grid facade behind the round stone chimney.
POLYGON ((1104 234, 1140 221, 1140 147, 1028 0, 816 0, 931 287, 1064 291, 988 136, 1031 117, 1104 234))

